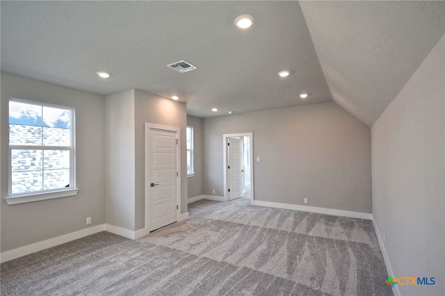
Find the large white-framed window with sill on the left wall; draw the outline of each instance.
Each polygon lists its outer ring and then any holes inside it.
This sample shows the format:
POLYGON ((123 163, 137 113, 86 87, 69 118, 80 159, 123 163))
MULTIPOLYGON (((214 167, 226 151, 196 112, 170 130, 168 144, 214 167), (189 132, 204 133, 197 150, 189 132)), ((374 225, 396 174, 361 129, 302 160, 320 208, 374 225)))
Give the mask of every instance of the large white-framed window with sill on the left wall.
POLYGON ((74 108, 9 101, 8 204, 75 195, 74 108))

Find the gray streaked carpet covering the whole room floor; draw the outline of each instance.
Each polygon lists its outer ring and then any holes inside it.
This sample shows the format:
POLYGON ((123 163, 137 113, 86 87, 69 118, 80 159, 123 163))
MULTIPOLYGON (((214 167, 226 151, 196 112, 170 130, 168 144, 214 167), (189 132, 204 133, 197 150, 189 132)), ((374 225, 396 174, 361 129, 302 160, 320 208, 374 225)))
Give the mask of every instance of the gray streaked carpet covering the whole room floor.
POLYGON ((372 222, 232 202, 1 265, 1 295, 392 295, 372 222))

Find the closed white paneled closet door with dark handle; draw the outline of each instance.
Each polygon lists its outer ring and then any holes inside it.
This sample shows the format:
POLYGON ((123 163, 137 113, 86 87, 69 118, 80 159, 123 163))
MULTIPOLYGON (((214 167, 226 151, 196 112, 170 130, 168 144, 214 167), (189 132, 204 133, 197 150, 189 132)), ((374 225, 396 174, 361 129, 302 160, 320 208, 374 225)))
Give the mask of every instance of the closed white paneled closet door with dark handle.
POLYGON ((177 222, 177 132, 149 131, 149 231, 177 222))

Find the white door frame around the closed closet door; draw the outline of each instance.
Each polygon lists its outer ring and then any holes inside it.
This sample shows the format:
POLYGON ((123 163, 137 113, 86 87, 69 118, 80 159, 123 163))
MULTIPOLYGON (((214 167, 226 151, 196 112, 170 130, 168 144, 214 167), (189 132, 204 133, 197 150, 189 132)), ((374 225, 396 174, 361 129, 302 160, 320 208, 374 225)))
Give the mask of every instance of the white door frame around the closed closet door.
POLYGON ((150 129, 160 129, 163 131, 174 131, 178 140, 177 144, 177 216, 176 221, 179 221, 181 215, 181 129, 176 126, 167 126, 162 124, 152 124, 145 122, 145 233, 149 233, 149 207, 150 207, 150 182, 147 180, 150 176, 150 129))

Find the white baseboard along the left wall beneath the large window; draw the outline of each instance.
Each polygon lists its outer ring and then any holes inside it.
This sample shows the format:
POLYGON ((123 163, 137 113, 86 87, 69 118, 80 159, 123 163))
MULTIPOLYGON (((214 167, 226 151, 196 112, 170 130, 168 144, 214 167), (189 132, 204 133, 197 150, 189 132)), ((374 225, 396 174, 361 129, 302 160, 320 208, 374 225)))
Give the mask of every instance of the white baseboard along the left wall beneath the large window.
POLYGON ((18 247, 17 249, 11 249, 10 251, 2 252, 0 254, 0 262, 6 262, 26 256, 35 252, 42 251, 43 249, 48 249, 50 247, 56 247, 57 245, 62 245, 65 242, 70 242, 72 240, 77 240, 85 236, 90 236, 92 234, 101 232, 105 230, 105 224, 100 224, 94 227, 89 227, 79 231, 74 231, 72 233, 64 234, 63 236, 58 236, 56 238, 50 238, 49 240, 43 240, 41 242, 35 242, 31 245, 26 245, 24 247, 18 247))

